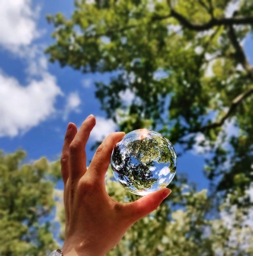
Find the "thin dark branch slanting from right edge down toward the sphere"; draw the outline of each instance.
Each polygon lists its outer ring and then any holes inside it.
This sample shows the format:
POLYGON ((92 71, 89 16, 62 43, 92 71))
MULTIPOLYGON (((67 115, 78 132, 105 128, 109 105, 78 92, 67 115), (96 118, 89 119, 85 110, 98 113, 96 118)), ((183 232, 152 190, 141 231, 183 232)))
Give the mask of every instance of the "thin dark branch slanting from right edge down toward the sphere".
POLYGON ((204 131, 207 131, 207 130, 210 130, 210 129, 213 129, 213 128, 223 125, 223 123, 226 121, 226 119, 234 112, 234 110, 236 110, 236 108, 242 103, 242 101, 244 101, 251 94, 253 94, 253 87, 248 89, 244 93, 238 95, 236 98, 234 98, 230 108, 228 109, 226 114, 223 116, 223 118, 221 118, 220 121, 211 123, 209 125, 205 125, 205 126, 201 127, 200 129, 193 129, 193 130, 191 130, 191 132, 193 132, 193 133, 204 132, 204 131))

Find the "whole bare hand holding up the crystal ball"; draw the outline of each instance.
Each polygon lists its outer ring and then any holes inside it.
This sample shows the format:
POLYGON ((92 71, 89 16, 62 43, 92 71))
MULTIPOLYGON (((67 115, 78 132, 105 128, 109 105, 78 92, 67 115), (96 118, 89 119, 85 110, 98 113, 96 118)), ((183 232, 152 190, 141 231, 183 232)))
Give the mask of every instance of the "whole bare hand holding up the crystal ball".
POLYGON ((64 256, 105 255, 130 226, 157 209, 171 193, 163 188, 131 203, 113 200, 106 192, 105 174, 111 152, 125 133, 108 135, 88 168, 85 145, 95 123, 93 115, 83 121, 79 131, 74 123, 69 123, 64 139, 61 157, 66 216, 64 256))

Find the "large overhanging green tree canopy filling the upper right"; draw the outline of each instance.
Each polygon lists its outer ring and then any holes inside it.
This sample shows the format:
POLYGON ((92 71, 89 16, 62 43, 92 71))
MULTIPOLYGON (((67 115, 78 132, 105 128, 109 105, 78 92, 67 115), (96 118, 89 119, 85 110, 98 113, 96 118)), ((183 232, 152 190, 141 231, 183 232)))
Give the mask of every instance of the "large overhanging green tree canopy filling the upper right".
POLYGON ((238 2, 227 17, 232 0, 77 0, 71 19, 48 16, 55 44, 46 52, 82 72, 114 72, 96 97, 121 130, 151 127, 186 150, 202 138, 217 190, 249 187, 253 67, 241 42, 253 4, 238 2))

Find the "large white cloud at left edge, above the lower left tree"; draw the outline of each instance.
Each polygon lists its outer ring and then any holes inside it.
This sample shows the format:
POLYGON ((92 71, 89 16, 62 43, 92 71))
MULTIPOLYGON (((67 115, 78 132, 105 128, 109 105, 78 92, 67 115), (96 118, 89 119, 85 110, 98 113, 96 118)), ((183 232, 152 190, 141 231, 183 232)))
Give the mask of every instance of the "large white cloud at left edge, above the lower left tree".
POLYGON ((50 74, 22 86, 0 70, 0 137, 16 136, 51 116, 60 94, 60 88, 50 74))

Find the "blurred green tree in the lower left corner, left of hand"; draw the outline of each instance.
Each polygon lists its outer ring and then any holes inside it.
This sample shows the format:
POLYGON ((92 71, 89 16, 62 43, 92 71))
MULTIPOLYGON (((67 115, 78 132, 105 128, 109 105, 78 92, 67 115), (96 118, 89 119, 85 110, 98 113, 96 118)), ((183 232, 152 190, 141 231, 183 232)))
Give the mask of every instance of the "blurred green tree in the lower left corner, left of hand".
POLYGON ((0 255, 42 256, 57 247, 49 217, 59 161, 20 165, 24 157, 20 150, 0 153, 0 255))

